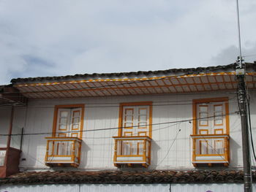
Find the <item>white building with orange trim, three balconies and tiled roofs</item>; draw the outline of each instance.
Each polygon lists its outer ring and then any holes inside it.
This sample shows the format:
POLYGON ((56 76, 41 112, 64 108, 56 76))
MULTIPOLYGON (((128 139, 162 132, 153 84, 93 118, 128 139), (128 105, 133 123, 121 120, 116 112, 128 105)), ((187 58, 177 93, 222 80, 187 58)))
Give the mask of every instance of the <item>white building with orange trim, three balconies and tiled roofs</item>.
MULTIPOLYGON (((252 135, 255 64, 246 64, 252 135)), ((230 64, 12 80, 1 88, 0 189, 239 190, 235 70, 230 64)))

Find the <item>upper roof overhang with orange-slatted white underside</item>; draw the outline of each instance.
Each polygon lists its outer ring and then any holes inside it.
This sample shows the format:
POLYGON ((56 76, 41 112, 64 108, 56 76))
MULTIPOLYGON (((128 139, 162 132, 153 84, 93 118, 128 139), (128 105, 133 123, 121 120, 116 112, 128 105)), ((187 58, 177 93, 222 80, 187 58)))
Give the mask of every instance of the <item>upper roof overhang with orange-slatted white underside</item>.
MULTIPOLYGON (((256 62, 246 63, 248 88, 256 88, 256 62)), ((75 74, 12 80, 27 98, 126 96, 236 89, 236 64, 148 72, 75 74)))

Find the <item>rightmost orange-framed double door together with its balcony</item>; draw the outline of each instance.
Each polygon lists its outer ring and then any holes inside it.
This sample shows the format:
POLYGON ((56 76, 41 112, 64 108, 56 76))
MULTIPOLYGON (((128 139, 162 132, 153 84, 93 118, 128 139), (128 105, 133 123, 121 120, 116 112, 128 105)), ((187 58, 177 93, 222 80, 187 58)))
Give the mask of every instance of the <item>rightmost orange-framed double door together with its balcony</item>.
POLYGON ((193 100, 192 164, 230 162, 228 98, 193 100))

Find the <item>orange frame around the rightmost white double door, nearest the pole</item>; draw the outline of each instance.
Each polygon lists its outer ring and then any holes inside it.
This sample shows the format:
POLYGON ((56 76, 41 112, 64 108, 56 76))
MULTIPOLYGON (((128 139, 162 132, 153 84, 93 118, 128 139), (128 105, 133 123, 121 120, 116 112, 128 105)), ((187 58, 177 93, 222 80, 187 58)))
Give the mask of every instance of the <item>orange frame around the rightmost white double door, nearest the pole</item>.
POLYGON ((230 133, 230 120, 229 120, 229 106, 228 97, 207 98, 207 99, 193 99, 192 115, 193 115, 193 135, 197 134, 197 104, 207 102, 225 102, 225 116, 226 116, 226 131, 230 133))

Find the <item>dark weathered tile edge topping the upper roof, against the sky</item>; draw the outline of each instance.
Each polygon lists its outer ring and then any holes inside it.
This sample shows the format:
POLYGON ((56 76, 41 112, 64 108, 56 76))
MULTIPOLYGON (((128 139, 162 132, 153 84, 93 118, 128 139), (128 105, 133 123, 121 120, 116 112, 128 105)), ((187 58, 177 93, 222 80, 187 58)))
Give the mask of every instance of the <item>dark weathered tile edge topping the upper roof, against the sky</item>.
MULTIPOLYGON (((246 67, 252 69, 256 72, 255 67, 256 61, 254 64, 246 63, 246 67)), ((78 80, 80 78, 99 78, 99 77, 121 77, 121 76, 138 76, 138 75, 157 75, 157 74, 198 74, 200 72, 217 72, 219 70, 234 70, 236 69, 235 64, 229 64, 225 66, 207 66, 207 67, 197 67, 197 68, 187 68, 187 69, 167 69, 167 70, 158 70, 158 71, 147 71, 147 72, 119 72, 119 73, 93 73, 93 74, 74 74, 74 75, 66 75, 66 76, 55 76, 55 77, 27 77, 27 78, 17 78, 12 79, 12 84, 19 83, 19 82, 41 82, 41 81, 64 81, 64 80, 78 80)))

